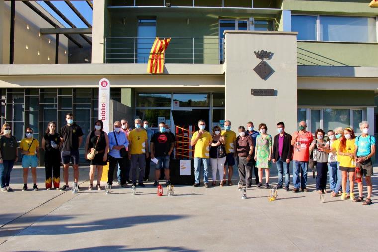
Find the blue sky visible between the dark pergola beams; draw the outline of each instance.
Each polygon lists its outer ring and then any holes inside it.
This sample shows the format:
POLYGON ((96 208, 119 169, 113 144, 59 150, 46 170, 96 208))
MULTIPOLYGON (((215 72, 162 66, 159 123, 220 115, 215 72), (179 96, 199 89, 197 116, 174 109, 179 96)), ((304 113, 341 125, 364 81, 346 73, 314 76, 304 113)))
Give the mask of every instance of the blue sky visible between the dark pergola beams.
MULTIPOLYGON (((44 9, 46 9, 54 18, 56 18, 60 23, 66 28, 70 28, 62 18, 60 18, 49 6, 43 1, 36 1, 44 9)), ((71 8, 64 1, 50 1, 60 12, 63 13, 76 27, 87 28, 82 20, 71 10, 71 8)), ((84 16, 84 18, 92 25, 92 9, 85 1, 71 1, 72 5, 84 16)))

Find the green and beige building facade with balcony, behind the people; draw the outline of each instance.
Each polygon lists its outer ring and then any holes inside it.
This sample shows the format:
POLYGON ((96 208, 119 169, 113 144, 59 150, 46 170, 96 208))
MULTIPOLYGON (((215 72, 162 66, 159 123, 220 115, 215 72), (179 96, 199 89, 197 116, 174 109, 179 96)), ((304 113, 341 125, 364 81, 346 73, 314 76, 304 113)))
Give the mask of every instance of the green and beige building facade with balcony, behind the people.
POLYGON ((369 2, 95 0, 91 64, 3 61, 1 122, 17 139, 26 127, 41 138, 49 121, 60 127, 73 112, 88 134, 107 78, 128 120, 153 129, 159 120, 186 128, 204 119, 211 129, 228 119, 235 131, 253 121, 275 134, 278 121, 294 132, 306 120, 311 132, 351 126, 359 134, 367 120, 377 132, 378 8, 369 2), (164 73, 148 74, 156 36, 172 39, 164 73))

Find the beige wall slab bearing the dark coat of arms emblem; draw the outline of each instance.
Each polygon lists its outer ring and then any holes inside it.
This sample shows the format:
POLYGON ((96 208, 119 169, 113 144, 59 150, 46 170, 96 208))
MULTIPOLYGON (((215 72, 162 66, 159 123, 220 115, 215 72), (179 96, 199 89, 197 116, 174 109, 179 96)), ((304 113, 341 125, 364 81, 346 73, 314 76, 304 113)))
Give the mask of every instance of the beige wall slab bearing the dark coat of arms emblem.
POLYGON ((232 130, 246 122, 266 123, 276 135, 276 124, 283 121, 286 131, 296 130, 297 67, 296 33, 226 32, 225 119, 232 130), (275 71, 267 80, 253 68, 261 61, 254 51, 267 50, 273 57, 267 63, 275 71), (252 96, 251 88, 274 89, 275 96, 252 96))

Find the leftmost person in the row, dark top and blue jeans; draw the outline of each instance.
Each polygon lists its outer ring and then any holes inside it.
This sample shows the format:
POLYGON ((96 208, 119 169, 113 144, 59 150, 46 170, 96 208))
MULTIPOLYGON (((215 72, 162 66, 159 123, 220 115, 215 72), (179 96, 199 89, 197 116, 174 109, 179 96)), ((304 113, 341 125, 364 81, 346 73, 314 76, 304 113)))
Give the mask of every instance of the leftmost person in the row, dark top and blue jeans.
POLYGON ((0 183, 1 191, 13 191, 9 186, 10 172, 18 159, 17 139, 11 134, 9 123, 2 125, 0 133, 0 183))

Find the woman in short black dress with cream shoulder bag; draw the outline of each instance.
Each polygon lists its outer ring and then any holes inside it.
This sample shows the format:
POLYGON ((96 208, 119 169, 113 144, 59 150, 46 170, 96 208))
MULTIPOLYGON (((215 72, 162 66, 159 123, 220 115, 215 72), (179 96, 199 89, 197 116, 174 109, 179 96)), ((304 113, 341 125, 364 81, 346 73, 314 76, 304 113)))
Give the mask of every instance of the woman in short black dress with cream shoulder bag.
POLYGON ((96 149, 95 158, 90 161, 90 171, 89 171, 89 187, 88 190, 93 189, 93 180, 95 179, 95 170, 97 168, 97 184, 96 189, 102 190, 101 188, 101 177, 102 169, 104 165, 107 165, 107 153, 109 151, 109 138, 106 132, 103 131, 102 120, 97 120, 95 122, 95 129, 87 136, 85 145, 85 159, 87 159, 87 154, 92 150, 96 149))

